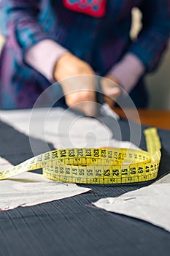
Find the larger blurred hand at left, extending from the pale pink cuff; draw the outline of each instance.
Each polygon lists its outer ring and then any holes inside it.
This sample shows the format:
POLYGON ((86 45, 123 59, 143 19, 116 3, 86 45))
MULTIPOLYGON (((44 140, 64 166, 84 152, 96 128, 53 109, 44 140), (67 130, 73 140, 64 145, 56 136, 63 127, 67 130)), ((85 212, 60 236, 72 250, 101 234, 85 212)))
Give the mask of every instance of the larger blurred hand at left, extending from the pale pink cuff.
POLYGON ((69 107, 88 116, 96 114, 95 73, 89 64, 72 53, 65 53, 56 62, 53 75, 61 83, 69 107))

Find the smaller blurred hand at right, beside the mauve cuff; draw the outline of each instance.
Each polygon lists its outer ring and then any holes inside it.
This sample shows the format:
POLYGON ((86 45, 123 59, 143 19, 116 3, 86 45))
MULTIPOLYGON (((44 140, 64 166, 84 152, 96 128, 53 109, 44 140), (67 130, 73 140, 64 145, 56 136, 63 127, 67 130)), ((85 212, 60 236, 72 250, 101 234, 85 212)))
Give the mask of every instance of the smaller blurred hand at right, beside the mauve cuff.
POLYGON ((115 105, 116 98, 120 95, 121 90, 120 86, 117 83, 117 80, 111 76, 106 76, 101 78, 101 88, 104 93, 104 99, 112 108, 115 105))

